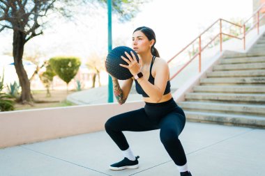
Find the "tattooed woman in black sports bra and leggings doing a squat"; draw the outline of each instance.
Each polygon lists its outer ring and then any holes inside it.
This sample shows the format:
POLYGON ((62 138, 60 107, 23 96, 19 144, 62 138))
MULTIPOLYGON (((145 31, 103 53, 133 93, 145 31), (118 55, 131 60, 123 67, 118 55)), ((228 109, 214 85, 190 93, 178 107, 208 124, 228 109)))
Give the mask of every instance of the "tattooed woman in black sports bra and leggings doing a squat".
POLYGON ((109 166, 112 170, 138 168, 138 158, 135 157, 122 131, 149 131, 160 129, 160 140, 169 156, 179 168, 181 175, 190 176, 185 152, 179 141, 179 134, 185 126, 185 114, 177 106, 170 93, 169 67, 167 61, 159 58, 154 47, 156 35, 152 29, 142 26, 132 34, 132 48, 139 56, 139 63, 135 55, 126 53, 129 60, 121 56, 134 76, 123 81, 120 86, 116 78, 112 77, 114 95, 119 104, 126 102, 132 82, 135 81, 137 93, 142 94, 145 106, 142 109, 122 113, 109 118, 105 123, 107 134, 118 145, 124 159, 109 166))

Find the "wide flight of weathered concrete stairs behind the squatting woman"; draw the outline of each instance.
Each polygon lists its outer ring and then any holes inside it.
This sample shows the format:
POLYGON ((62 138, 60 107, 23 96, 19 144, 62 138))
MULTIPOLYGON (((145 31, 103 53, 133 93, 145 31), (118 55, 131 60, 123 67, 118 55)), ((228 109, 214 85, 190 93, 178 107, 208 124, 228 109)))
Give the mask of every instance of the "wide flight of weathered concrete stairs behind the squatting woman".
POLYGON ((222 58, 179 106, 189 121, 265 128, 265 34, 248 54, 222 58))

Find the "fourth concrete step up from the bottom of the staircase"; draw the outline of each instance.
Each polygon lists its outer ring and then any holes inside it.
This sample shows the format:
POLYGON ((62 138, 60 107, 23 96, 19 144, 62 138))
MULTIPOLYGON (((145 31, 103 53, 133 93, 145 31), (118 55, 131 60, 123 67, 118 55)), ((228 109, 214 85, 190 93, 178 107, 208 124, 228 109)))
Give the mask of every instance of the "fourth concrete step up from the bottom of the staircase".
POLYGON ((194 86, 195 93, 265 93, 265 86, 194 86))

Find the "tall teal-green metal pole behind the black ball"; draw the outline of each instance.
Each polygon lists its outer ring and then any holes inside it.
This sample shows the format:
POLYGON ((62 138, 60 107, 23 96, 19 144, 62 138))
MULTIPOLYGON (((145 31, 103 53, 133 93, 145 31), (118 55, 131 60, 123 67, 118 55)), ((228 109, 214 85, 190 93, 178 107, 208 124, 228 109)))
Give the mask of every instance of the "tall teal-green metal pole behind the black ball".
MULTIPOLYGON (((112 0, 107 0, 107 49, 108 52, 112 51, 112 0)), ((108 99, 107 102, 113 102, 113 86, 112 77, 109 75, 109 86, 108 86, 108 99)))

